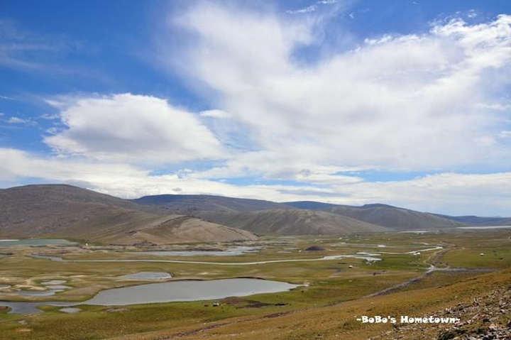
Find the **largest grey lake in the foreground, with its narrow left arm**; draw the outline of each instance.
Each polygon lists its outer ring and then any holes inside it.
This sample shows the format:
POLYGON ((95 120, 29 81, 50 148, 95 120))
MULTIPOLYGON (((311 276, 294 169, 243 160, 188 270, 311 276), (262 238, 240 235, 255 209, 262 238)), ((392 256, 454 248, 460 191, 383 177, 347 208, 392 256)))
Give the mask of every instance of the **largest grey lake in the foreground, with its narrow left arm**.
POLYGON ((102 290, 84 302, 1 302, 11 307, 11 313, 40 313, 38 306, 51 305, 70 307, 77 305, 121 306, 160 302, 185 302, 219 300, 225 297, 242 297, 262 293, 286 292, 300 285, 280 281, 253 278, 223 280, 182 280, 166 283, 148 283, 130 287, 102 290))

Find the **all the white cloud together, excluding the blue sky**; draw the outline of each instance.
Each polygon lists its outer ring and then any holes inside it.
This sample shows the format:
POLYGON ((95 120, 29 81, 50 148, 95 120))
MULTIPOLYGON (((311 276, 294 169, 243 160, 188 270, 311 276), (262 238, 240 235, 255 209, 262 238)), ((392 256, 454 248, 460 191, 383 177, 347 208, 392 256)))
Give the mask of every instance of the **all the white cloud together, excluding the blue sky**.
POLYGON ((335 2, 311 2, 315 11, 296 16, 190 5, 169 20, 187 43, 163 42, 159 60, 211 110, 135 94, 55 97, 48 104, 57 116, 40 116, 55 156, 0 148, 0 181, 38 178, 120 197, 180 192, 509 214, 511 16, 476 25, 455 18, 346 50, 331 45, 344 31, 322 40, 332 16, 319 9, 334 11, 339 4, 322 5, 335 2), (192 160, 211 162, 162 170, 192 160), (486 173, 456 173, 471 168, 486 173), (367 182, 366 170, 437 175, 367 182), (229 184, 233 177, 251 184, 229 184))

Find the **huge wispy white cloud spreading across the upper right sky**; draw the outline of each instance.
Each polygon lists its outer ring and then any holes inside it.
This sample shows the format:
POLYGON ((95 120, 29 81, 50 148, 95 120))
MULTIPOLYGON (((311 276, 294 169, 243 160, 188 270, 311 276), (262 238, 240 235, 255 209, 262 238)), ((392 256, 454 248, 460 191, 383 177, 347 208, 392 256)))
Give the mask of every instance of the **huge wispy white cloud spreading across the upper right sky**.
MULTIPOLYGON (((174 23, 197 38, 179 54, 187 76, 214 90, 211 99, 260 153, 394 170, 511 159, 509 143, 497 138, 505 116, 478 106, 499 104, 495 88, 510 84, 511 16, 385 35, 308 65, 295 62, 295 51, 318 44, 322 23, 315 20, 205 4, 174 23)), ((239 158, 229 164, 247 157, 239 158)))

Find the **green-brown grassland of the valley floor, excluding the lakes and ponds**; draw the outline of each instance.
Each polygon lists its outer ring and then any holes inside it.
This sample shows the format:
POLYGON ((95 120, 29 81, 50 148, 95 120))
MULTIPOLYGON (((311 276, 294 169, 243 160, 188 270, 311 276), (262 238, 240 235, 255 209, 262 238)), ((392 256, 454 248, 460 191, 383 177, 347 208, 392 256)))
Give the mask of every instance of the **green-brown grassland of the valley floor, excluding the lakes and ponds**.
MULTIPOLYGON (((253 277, 304 285, 290 292, 260 294, 221 300, 219 307, 204 302, 171 302, 122 307, 82 305, 83 312, 65 314, 45 306, 40 314, 7 314, 0 310, 0 339, 160 339, 177 334, 185 339, 233 337, 236 339, 312 339, 314 337, 366 339, 390 325, 363 325, 361 314, 421 315, 480 292, 511 282, 511 232, 457 231, 439 234, 385 233, 334 237, 268 237, 258 253, 242 256, 143 256, 121 249, 87 249, 48 246, 9 248, 0 256, 0 285, 41 289, 40 281, 65 279, 73 287, 50 297, 0 294, 9 301, 84 301, 110 287, 142 284, 119 275, 138 271, 165 271, 170 280, 253 277), (428 243, 428 244, 424 244, 428 243), (324 251, 304 251, 309 246, 324 251), (378 247, 385 245, 385 247, 378 247), (405 254, 433 246, 444 248, 405 254), (280 253, 290 251, 290 253, 280 253), (282 262, 255 265, 192 263, 87 263, 55 262, 29 258, 33 253, 65 259, 151 258, 204 262, 255 262, 385 251, 383 261, 368 263, 356 258, 330 261, 282 262), (484 253, 484 256, 480 256, 484 253), (423 275, 430 265, 466 268, 438 271, 385 295, 375 292, 423 275), (352 268, 350 268, 350 266, 352 268), (492 272, 474 269, 487 268, 492 272), (305 285, 307 284, 307 285, 305 285)), ((197 247, 197 245, 193 245, 197 247)), ((226 246, 226 245, 215 245, 226 246)), ((130 251, 133 251, 130 249, 130 251)), ((0 304, 1 305, 1 304, 0 304)))

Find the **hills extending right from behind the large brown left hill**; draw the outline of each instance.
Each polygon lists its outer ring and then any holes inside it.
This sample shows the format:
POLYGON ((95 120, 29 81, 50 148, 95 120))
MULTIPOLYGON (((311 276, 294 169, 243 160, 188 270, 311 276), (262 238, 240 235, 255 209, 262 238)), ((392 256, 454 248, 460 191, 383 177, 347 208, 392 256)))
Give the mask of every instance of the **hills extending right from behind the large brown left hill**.
POLYGON ((146 196, 134 199, 133 202, 154 204, 174 212, 186 212, 214 223, 236 226, 256 234, 289 234, 292 232, 306 234, 307 229, 309 229, 309 234, 343 234, 353 232, 354 226, 359 226, 360 231, 382 231, 383 229, 375 227, 410 230, 454 228, 464 225, 435 214, 415 212, 381 203, 353 207, 314 201, 277 203, 212 195, 179 194, 146 196), (341 221, 329 214, 314 214, 314 219, 312 219, 312 214, 300 214, 295 212, 297 209, 322 211, 350 219, 341 221), (268 210, 273 210, 273 212, 268 212, 268 210), (275 226, 277 221, 280 221, 280 228, 275 226), (357 222, 355 223, 355 221, 357 222), (361 225, 360 222, 365 222, 365 224, 361 225), (293 228, 290 229, 290 226, 293 228), (322 226, 322 228, 317 226, 322 226))

